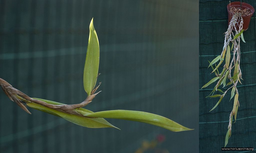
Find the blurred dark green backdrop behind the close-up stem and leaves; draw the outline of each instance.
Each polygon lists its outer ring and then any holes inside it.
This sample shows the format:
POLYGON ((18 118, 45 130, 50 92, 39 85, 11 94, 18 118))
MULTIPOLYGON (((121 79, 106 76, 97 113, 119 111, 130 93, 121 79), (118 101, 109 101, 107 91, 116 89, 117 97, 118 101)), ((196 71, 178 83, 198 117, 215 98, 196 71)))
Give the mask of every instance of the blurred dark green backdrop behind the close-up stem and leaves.
POLYGON ((102 92, 86 108, 156 113, 195 130, 113 119, 121 131, 89 129, 29 115, 0 91, 0 152, 128 153, 159 134, 158 149, 198 152, 198 1, 1 0, 0 77, 30 97, 80 103, 92 17, 102 92))

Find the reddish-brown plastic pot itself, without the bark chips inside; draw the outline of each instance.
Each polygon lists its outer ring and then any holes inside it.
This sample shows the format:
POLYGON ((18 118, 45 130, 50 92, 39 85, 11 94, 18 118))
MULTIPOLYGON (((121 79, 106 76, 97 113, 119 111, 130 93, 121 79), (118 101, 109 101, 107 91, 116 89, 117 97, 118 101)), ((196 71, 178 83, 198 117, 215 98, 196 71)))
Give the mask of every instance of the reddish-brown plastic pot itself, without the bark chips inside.
MULTIPOLYGON (((231 18, 233 17, 233 13, 230 12, 230 10, 229 10, 230 6, 240 8, 240 2, 232 2, 232 3, 228 4, 228 6, 227 6, 227 9, 228 9, 228 24, 229 24, 231 18)), ((252 12, 251 15, 242 16, 242 18, 243 18, 243 29, 244 29, 244 31, 246 31, 249 27, 251 17, 254 13, 254 8, 251 5, 247 4, 247 3, 242 3, 242 9, 244 9, 244 8, 249 8, 252 12)), ((238 24, 240 24, 240 23, 238 23, 238 24)), ((239 27, 239 26, 237 25, 236 27, 239 27)))

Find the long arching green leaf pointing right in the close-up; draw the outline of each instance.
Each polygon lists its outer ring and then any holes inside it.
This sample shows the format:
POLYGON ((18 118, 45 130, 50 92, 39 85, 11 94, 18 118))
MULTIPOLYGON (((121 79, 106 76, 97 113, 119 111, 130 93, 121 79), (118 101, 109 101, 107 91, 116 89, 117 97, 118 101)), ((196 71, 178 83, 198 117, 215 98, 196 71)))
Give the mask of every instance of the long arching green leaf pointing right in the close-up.
POLYGON ((142 111, 109 110, 109 111, 91 113, 87 116, 144 122, 144 123, 160 126, 174 132, 193 130, 185 126, 182 126, 163 116, 159 116, 159 115, 148 113, 148 112, 142 112, 142 111))

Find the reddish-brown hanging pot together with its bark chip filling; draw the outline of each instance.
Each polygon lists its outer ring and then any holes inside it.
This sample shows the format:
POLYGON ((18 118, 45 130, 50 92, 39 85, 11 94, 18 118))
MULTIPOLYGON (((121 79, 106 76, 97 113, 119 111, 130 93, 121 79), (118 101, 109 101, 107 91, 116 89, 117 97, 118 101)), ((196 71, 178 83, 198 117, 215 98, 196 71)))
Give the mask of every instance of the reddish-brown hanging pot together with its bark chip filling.
MULTIPOLYGON (((243 29, 244 31, 246 31, 249 27, 249 23, 251 20, 251 17, 254 13, 254 8, 247 3, 242 3, 242 7, 240 5, 240 2, 232 2, 230 4, 228 4, 227 9, 228 9, 228 24, 231 20, 231 18, 233 17, 233 12, 241 12, 242 14, 242 18, 243 18, 243 29), (230 11, 231 9, 231 11, 230 11)), ((238 23, 240 24, 240 23, 238 23)), ((239 25, 237 25, 236 27, 239 27, 239 25)))

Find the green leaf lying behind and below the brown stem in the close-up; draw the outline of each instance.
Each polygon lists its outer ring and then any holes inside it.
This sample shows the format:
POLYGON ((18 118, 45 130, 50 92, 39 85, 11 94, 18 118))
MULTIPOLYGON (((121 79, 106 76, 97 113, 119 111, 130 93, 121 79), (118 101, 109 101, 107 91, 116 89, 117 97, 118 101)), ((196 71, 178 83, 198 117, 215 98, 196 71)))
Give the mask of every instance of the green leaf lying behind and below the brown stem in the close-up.
MULTIPOLYGON (((39 98, 34 98, 34 99, 44 101, 48 104, 62 105, 61 103, 57 103, 55 101, 39 99, 39 98)), ((110 124, 108 121, 106 121, 103 118, 86 118, 86 117, 82 117, 82 116, 77 116, 77 115, 73 115, 73 114, 60 112, 60 111, 57 111, 57 110, 54 110, 51 108, 44 107, 42 105, 35 104, 35 103, 28 103, 27 105, 31 108, 61 117, 65 120, 68 120, 68 121, 75 123, 77 125, 80 125, 80 126, 90 127, 90 128, 114 127, 116 129, 118 129, 117 127, 110 124)), ((84 108, 79 108, 79 110, 77 110, 77 111, 83 112, 86 115, 93 113, 92 111, 84 109, 84 108)))

